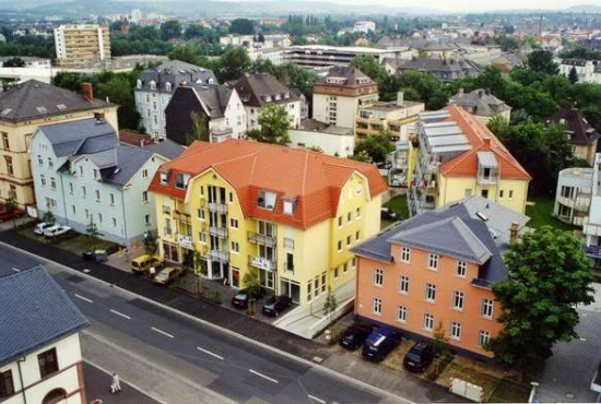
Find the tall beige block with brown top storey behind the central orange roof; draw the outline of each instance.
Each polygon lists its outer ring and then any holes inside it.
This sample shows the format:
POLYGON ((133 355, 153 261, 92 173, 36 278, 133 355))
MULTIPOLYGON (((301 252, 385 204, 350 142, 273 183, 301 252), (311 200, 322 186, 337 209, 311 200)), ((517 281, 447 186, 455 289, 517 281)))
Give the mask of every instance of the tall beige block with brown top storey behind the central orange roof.
POLYGON ((378 100, 378 84, 357 68, 335 67, 313 87, 313 118, 353 129, 360 107, 378 100))

